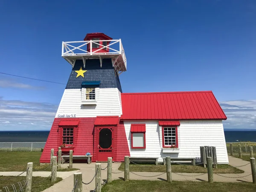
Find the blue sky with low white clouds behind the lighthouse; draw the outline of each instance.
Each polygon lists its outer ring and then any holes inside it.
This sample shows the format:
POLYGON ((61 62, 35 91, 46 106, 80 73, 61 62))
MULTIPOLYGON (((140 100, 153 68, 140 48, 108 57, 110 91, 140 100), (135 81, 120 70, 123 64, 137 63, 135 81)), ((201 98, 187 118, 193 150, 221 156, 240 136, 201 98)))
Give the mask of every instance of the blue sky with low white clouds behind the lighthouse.
MULTIPOLYGON (((212 90, 224 128, 256 128, 255 18, 254 0, 3 0, 0 72, 65 84, 61 42, 104 32, 122 39, 124 93, 212 90)), ((64 88, 0 74, 0 130, 50 129, 64 88)))

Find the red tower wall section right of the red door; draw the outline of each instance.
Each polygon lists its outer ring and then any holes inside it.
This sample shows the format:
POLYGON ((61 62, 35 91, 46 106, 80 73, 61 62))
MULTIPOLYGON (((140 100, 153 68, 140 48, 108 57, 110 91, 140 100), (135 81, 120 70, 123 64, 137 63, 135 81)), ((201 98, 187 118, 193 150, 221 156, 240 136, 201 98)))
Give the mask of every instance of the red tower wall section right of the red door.
POLYGON ((115 129, 114 142, 115 142, 115 151, 114 151, 114 161, 122 161, 125 159, 125 156, 130 156, 130 151, 128 147, 128 138, 125 134, 125 126, 122 121, 119 122, 115 129))

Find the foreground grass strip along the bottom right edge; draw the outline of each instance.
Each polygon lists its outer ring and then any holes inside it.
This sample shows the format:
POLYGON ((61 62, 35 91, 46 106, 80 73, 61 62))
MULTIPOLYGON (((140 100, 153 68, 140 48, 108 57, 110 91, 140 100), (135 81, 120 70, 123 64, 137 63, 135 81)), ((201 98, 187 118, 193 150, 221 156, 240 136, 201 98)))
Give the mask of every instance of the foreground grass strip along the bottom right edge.
POLYGON ((222 183, 199 181, 114 180, 102 192, 255 192, 253 183, 222 183))

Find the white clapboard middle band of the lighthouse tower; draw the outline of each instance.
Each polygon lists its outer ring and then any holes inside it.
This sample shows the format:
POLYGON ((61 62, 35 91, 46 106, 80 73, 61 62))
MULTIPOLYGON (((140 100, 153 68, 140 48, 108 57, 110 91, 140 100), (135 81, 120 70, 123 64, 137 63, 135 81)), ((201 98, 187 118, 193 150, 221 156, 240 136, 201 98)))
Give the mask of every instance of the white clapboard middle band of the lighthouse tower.
POLYGON ((55 117, 72 114, 76 117, 122 114, 121 94, 117 88, 96 88, 97 105, 82 105, 83 92, 84 89, 65 89, 55 117))

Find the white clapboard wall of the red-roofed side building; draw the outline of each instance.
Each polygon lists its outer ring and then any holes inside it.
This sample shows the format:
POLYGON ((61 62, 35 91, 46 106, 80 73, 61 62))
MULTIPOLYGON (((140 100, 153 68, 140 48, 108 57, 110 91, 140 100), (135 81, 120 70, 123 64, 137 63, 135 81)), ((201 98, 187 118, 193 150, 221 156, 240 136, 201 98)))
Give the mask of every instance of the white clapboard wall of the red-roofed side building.
POLYGON ((163 153, 162 151, 162 127, 158 121, 124 121, 125 133, 131 157, 195 157, 200 162, 200 146, 215 146, 218 163, 228 163, 226 141, 221 120, 191 120, 180 121, 178 126, 178 153, 163 153), (146 124, 146 148, 131 148, 131 124, 146 124))

